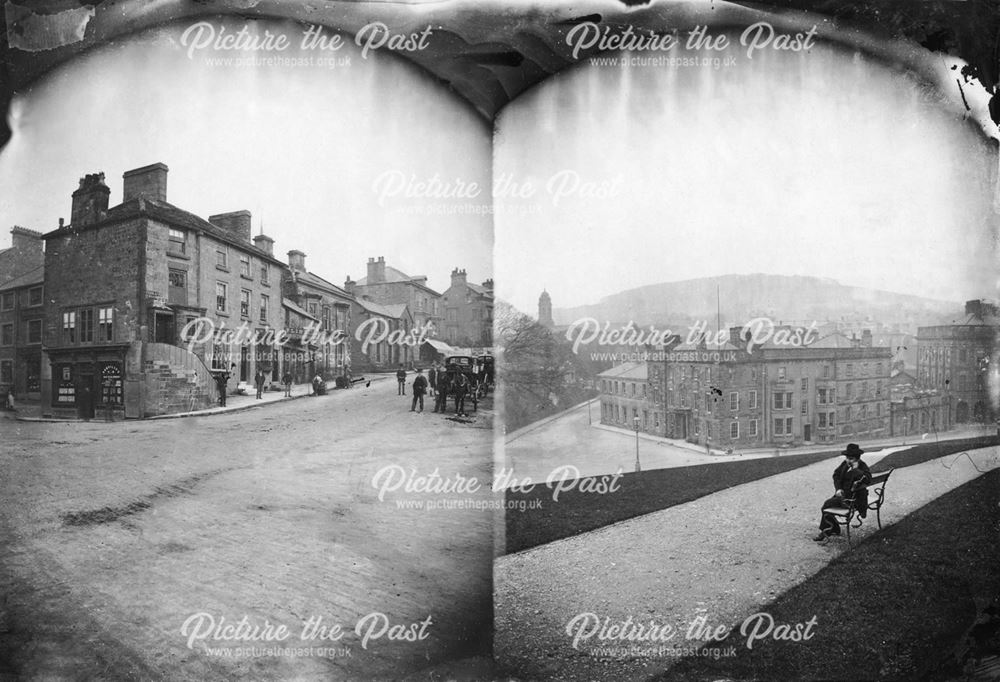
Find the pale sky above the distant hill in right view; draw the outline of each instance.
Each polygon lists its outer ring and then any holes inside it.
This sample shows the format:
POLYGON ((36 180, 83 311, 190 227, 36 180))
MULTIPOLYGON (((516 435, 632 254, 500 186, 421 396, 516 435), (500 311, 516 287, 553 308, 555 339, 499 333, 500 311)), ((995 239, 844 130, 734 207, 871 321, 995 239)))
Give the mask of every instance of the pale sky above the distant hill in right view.
POLYGON ((543 288, 559 308, 730 273, 996 295, 997 158, 957 93, 823 42, 716 56, 584 62, 501 111, 495 181, 534 188, 498 197, 501 298, 534 313, 543 288))

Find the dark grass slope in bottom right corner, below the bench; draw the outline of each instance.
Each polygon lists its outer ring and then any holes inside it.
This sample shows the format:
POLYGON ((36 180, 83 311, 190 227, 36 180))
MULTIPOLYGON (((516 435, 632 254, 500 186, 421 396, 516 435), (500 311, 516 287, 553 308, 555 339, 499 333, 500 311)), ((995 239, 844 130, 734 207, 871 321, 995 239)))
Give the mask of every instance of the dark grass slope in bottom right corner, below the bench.
POLYGON ((769 638, 748 649, 737 627, 712 645, 733 645, 736 656, 690 656, 654 679, 962 679, 972 659, 1000 654, 1000 618, 988 616, 1000 613, 997 566, 1000 471, 992 471, 869 537, 761 607, 776 623, 816 616, 809 640, 769 638), (977 616, 988 622, 970 632, 977 616))

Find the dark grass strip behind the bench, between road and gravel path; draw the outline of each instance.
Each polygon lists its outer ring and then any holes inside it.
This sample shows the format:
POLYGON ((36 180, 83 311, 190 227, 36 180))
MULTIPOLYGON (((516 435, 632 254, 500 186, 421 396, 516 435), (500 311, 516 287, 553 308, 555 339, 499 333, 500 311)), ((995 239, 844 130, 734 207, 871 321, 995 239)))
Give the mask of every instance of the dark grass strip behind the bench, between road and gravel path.
MULTIPOLYGON (((873 467, 873 470, 911 466, 972 447, 995 445, 997 442, 1000 441, 996 437, 988 437, 945 441, 940 444, 922 443, 889 455, 873 467)), ((839 452, 838 449, 825 453, 654 469, 638 474, 627 473, 622 475, 619 482, 620 490, 614 494, 595 495, 574 488, 562 492, 558 502, 553 502, 552 491, 545 485, 536 485, 527 493, 508 491, 507 500, 523 500, 525 502, 523 508, 526 511, 512 511, 508 506, 507 553, 519 552, 553 540, 690 502, 735 485, 836 457, 839 452), (541 506, 533 508, 533 502, 541 506)))

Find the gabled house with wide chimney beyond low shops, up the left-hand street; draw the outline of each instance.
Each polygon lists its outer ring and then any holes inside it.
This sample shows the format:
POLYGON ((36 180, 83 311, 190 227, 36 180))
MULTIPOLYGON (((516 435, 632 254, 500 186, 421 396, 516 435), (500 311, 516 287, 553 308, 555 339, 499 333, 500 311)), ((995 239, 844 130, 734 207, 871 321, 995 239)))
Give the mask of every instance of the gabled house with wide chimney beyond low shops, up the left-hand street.
POLYGON ((344 289, 380 305, 405 305, 413 324, 421 328, 430 325, 429 338, 439 338, 441 329, 441 294, 427 286, 427 277, 411 277, 405 272, 385 264, 385 257, 368 259, 368 274, 357 282, 350 277, 344 289))

